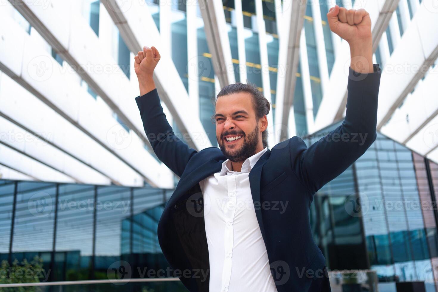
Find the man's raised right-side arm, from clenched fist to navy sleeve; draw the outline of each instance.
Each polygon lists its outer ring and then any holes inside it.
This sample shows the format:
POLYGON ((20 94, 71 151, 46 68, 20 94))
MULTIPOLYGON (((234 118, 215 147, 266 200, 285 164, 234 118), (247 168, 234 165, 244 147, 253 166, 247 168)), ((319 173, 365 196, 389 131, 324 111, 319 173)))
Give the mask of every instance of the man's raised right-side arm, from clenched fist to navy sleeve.
POLYGON ((371 20, 364 9, 337 5, 327 14, 330 29, 350 45, 346 116, 342 125, 307 148, 290 139, 291 164, 301 182, 314 193, 339 176, 376 139, 381 69, 372 63, 371 20))

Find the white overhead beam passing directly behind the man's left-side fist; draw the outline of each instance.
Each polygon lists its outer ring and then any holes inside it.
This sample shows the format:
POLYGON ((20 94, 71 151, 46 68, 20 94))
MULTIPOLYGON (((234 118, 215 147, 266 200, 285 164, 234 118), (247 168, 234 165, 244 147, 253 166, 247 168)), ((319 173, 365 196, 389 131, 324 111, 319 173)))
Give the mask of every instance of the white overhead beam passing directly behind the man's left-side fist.
MULTIPOLYGON (((119 28, 120 35, 132 53, 137 54, 143 46, 155 46, 160 50, 161 37, 144 2, 129 1, 125 3, 127 7, 121 5, 121 1, 118 0, 102 0, 101 2, 119 28)), ((212 144, 198 116, 189 114, 191 113, 190 99, 170 54, 166 53, 170 52, 170 49, 164 49, 163 53, 161 52, 160 50, 161 60, 154 71, 154 81, 160 99, 166 104, 181 133, 187 133, 187 141, 184 142, 198 151, 211 147, 212 144)), ((126 102, 132 102, 131 99, 132 97, 129 97, 126 102)), ((139 116, 138 109, 136 109, 136 115, 139 116)), ((141 132, 144 133, 144 130, 141 132)))

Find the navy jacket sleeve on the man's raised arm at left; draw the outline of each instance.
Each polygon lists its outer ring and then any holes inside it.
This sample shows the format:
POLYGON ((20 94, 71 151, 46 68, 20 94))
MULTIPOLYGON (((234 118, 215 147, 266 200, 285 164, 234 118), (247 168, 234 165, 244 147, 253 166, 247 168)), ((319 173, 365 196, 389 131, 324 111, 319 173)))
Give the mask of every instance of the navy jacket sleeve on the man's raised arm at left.
POLYGON ((178 138, 163 113, 157 89, 135 98, 141 120, 152 148, 163 162, 177 176, 181 177, 187 162, 197 153, 178 138))

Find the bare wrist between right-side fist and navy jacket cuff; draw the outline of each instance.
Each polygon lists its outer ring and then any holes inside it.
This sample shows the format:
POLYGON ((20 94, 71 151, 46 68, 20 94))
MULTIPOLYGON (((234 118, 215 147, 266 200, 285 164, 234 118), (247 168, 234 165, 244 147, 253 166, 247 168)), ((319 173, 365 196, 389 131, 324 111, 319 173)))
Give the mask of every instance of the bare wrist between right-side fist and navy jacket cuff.
POLYGON ((351 69, 358 73, 374 72, 372 39, 362 39, 348 43, 350 45, 351 69))

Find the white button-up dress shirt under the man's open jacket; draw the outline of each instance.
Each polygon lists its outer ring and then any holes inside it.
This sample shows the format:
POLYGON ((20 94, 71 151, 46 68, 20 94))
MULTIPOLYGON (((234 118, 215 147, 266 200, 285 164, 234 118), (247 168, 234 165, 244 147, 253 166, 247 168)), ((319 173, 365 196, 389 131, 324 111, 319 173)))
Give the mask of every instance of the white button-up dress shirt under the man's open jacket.
POLYGON ((210 260, 210 292, 277 292, 254 211, 249 172, 268 150, 247 158, 240 172, 230 159, 201 180, 210 260))

